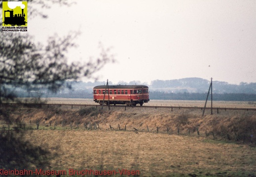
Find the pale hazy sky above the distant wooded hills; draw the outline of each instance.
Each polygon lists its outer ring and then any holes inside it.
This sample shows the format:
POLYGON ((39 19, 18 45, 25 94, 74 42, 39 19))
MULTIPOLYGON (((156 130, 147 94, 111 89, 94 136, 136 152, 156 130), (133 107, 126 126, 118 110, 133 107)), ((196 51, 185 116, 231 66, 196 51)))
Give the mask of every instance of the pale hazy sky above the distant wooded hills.
POLYGON ((28 20, 37 40, 81 31, 71 60, 98 57, 99 42, 112 47, 116 63, 100 81, 256 82, 256 0, 76 0, 41 11, 49 18, 28 20))

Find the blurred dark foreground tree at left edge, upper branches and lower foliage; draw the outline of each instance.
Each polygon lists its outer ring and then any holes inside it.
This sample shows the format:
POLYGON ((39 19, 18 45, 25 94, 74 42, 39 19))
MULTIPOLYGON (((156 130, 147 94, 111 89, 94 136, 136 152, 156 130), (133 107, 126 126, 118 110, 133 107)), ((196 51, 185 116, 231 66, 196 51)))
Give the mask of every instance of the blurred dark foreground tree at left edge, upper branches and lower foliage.
MULTIPOLYGON (((50 7, 48 2, 70 5, 68 0, 28 1, 31 6, 30 17, 47 17, 37 8, 33 8, 34 4, 44 8, 50 7)), ((2 1, 0 1, 1 12, 2 1)), ((79 32, 70 32, 62 37, 57 35, 49 37, 46 45, 35 43, 33 36, 28 33, 2 31, 0 33, 0 104, 3 100, 14 100, 16 98, 14 90, 17 87, 28 92, 38 89, 56 92, 63 87, 71 88, 66 84, 66 80, 93 77, 93 74, 107 62, 113 61, 113 57, 109 55, 110 49, 104 49, 100 45, 101 53, 96 61, 69 64, 67 53, 70 48, 75 47, 74 40, 79 32)), ((0 120, 7 124, 13 122, 14 118, 10 112, 0 108, 0 120)), ((48 165, 45 159, 49 151, 26 142, 23 133, 23 131, 0 133, 0 169, 45 168, 48 165)))

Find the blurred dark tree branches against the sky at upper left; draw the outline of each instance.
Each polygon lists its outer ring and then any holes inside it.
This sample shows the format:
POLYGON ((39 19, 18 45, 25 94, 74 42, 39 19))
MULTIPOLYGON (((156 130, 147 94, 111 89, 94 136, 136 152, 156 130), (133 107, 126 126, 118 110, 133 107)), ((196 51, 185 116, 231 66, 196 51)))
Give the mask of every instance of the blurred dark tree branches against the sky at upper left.
MULTIPOLYGON (((49 0, 48 0, 49 1, 49 0)), ((46 1, 47 2, 47 1, 46 1)), ((42 7, 49 7, 44 1, 30 1, 39 3, 42 7)), ((69 5, 66 0, 52 0, 53 3, 69 5)), ((2 2, 0 2, 2 5, 2 2)), ((33 7, 33 6, 32 6, 33 7)), ((34 12, 34 10, 32 10, 34 12)), ((35 11, 43 18, 46 15, 35 11)), ((75 47, 74 39, 79 32, 70 32, 64 37, 57 35, 48 38, 48 44, 33 42, 33 37, 27 33, 5 32, 0 35, 0 95, 3 99, 14 99, 13 92, 7 88, 15 87, 35 90, 47 88, 56 92, 65 87, 66 80, 76 80, 81 77, 92 77, 107 62, 113 61, 109 56, 110 49, 104 49, 96 61, 86 63, 72 62, 68 64, 67 53, 75 47)), ((71 87, 67 86, 66 87, 71 87)))

